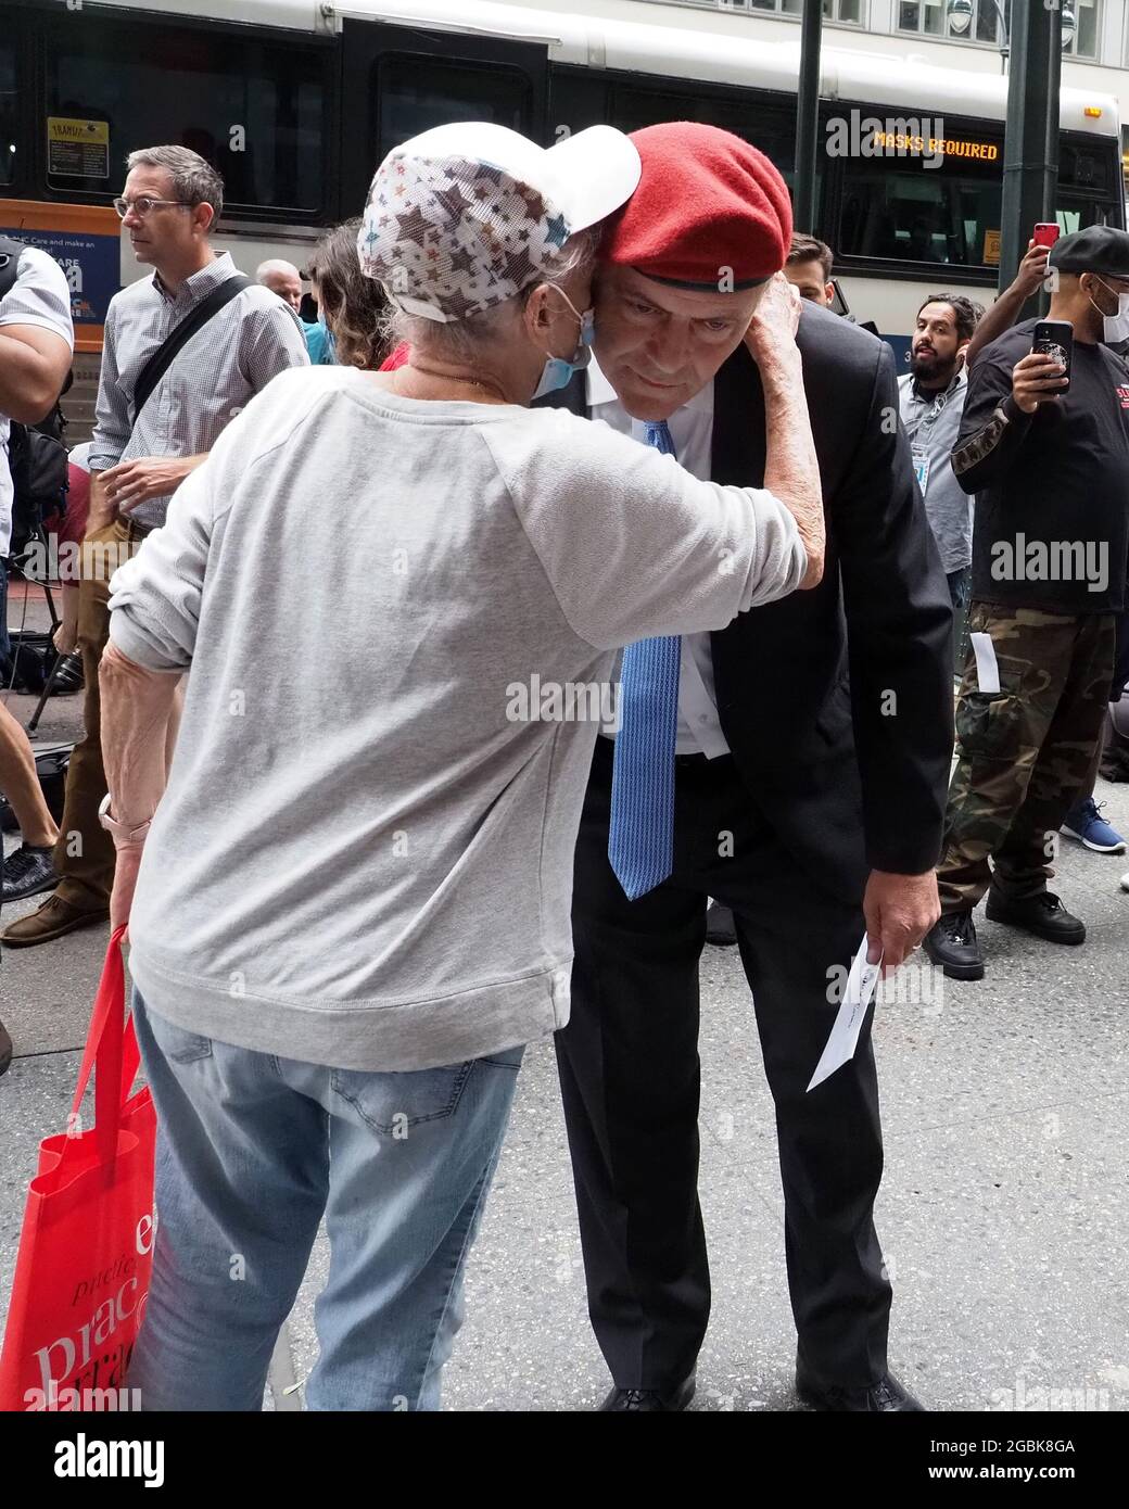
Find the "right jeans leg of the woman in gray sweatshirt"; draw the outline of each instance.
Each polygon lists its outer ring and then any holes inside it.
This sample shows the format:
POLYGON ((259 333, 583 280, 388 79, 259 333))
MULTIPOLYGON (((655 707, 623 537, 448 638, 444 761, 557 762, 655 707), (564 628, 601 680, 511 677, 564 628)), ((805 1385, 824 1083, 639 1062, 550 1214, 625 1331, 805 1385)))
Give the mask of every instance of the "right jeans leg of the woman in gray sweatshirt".
POLYGON ((329 1071, 331 1257, 309 1409, 439 1408, 521 1058, 329 1071))

